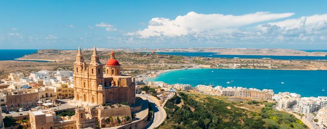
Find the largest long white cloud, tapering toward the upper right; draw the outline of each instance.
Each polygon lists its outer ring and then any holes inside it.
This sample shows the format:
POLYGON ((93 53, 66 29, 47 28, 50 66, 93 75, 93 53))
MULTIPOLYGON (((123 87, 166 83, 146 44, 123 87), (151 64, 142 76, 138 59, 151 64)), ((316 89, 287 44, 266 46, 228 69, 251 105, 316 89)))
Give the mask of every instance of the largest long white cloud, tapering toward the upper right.
POLYGON ((189 12, 184 16, 177 16, 174 20, 153 18, 149 26, 143 30, 130 32, 129 35, 138 35, 143 38, 150 36, 181 36, 238 32, 242 26, 287 18, 294 13, 274 14, 257 12, 240 16, 223 14, 197 14, 189 12))

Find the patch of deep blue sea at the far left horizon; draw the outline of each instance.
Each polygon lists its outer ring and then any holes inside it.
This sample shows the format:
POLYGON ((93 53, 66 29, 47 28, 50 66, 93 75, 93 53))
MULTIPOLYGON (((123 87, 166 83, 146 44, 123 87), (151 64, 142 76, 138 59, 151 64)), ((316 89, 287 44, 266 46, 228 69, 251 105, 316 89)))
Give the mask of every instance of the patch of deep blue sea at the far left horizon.
POLYGON ((37 52, 37 50, 0 50, 0 61, 15 60, 15 58, 23 57, 24 55, 35 52, 37 52))

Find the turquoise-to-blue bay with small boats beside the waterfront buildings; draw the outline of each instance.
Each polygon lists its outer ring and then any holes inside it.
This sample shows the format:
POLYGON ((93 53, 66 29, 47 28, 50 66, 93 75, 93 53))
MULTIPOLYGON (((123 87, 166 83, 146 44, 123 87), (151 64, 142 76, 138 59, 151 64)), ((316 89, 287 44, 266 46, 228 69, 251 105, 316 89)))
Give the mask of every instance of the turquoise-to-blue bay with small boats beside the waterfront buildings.
POLYGON ((148 81, 272 89, 275 94, 295 92, 302 97, 327 96, 327 71, 322 70, 187 69, 166 72, 148 81))

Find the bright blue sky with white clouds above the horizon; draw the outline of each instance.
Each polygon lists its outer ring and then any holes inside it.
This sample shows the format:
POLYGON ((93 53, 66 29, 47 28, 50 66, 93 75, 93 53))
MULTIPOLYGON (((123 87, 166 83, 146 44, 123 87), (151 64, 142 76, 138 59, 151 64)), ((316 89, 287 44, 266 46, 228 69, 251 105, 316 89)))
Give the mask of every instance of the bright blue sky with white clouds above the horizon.
POLYGON ((0 49, 327 49, 327 0, 1 0, 0 49))

